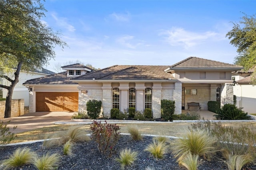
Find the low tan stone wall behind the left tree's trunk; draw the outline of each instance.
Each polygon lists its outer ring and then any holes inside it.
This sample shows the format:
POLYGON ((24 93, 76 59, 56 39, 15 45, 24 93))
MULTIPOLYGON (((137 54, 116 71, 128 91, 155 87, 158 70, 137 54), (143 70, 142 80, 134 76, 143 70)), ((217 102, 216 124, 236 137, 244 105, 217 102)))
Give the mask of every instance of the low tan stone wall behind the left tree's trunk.
MULTIPOLYGON (((6 101, 0 101, 0 119, 4 119, 5 103, 6 101)), ((11 117, 20 115, 24 115, 24 99, 13 99, 11 117)))

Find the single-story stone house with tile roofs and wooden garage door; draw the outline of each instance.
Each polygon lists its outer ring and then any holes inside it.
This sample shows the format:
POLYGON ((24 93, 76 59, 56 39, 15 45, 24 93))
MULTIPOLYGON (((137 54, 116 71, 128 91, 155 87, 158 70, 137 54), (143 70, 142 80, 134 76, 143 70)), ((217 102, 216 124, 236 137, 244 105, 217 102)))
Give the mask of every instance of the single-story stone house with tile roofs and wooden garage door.
POLYGON ((63 69, 67 72, 24 82, 32 88, 30 112, 85 112, 86 102, 92 99, 102 101, 108 117, 112 108, 135 107, 137 111, 151 108, 153 117, 159 118, 162 99, 175 100, 176 114, 187 109, 188 102, 199 102, 207 110, 208 101, 233 103, 231 73, 242 67, 189 57, 171 66, 114 65, 94 71, 72 64, 63 69), (75 75, 82 68, 84 73, 75 75))

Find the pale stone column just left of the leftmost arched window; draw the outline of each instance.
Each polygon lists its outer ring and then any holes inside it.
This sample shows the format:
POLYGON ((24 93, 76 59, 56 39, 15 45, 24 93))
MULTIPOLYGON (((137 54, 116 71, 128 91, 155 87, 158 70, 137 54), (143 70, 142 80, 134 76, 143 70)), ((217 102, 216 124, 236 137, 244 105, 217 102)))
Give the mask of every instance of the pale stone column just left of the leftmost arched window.
POLYGON ((111 83, 103 83, 102 86, 102 107, 104 117, 110 117, 110 110, 112 108, 112 86, 111 83))

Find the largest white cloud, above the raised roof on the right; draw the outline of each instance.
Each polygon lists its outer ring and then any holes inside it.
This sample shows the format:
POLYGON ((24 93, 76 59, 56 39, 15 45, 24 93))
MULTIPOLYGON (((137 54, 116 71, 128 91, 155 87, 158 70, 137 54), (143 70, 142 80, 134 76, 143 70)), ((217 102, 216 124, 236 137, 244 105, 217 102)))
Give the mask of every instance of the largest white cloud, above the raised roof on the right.
POLYGON ((198 45, 208 39, 218 36, 218 33, 206 31, 196 33, 186 31, 183 28, 172 27, 170 30, 161 31, 160 35, 165 35, 166 41, 172 46, 182 46, 186 49, 198 45))

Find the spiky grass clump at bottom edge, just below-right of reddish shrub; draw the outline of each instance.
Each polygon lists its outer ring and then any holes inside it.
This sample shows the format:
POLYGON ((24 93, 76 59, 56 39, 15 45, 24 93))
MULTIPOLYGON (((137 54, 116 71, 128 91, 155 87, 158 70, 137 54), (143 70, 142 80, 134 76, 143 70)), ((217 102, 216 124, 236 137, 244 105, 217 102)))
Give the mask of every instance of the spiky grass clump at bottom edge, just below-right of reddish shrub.
POLYGON ((131 149, 121 150, 119 153, 119 158, 116 161, 120 162, 121 168, 124 169, 126 166, 131 166, 137 158, 138 153, 132 152, 131 149))

